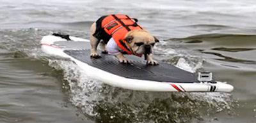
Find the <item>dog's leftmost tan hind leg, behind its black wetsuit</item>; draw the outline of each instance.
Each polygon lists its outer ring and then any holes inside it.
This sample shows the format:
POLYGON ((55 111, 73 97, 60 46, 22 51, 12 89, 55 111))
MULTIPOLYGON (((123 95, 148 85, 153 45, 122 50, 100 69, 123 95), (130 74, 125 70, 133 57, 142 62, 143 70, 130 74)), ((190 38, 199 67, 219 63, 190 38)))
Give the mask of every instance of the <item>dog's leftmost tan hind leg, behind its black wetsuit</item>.
POLYGON ((91 57, 98 58, 100 56, 99 54, 97 54, 97 47, 100 41, 93 36, 95 31, 96 31, 96 23, 94 22, 90 28, 91 57))

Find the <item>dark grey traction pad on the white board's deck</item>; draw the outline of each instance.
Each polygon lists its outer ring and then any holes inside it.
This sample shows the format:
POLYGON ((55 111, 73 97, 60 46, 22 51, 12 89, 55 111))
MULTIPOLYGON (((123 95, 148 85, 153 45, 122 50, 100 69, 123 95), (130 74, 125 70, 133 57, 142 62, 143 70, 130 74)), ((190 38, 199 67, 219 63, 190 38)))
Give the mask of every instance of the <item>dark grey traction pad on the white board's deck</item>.
POLYGON ((132 60, 132 63, 123 64, 120 63, 115 56, 108 54, 100 54, 101 57, 99 59, 91 58, 90 50, 64 50, 64 52, 90 66, 118 76, 124 76, 125 78, 157 82, 198 82, 193 73, 189 73, 188 71, 184 71, 164 62, 159 62, 158 66, 147 66, 142 58, 133 55, 125 55, 127 59, 132 60))

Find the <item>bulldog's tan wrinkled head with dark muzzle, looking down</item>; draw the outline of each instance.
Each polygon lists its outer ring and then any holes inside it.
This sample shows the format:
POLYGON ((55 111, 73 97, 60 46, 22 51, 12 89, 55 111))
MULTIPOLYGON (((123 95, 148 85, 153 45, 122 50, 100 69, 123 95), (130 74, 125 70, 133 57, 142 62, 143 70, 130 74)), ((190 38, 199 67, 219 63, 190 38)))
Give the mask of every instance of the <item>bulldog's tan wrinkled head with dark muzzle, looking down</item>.
POLYGON ((144 30, 132 31, 125 39, 136 54, 152 52, 155 43, 158 42, 154 36, 144 30))

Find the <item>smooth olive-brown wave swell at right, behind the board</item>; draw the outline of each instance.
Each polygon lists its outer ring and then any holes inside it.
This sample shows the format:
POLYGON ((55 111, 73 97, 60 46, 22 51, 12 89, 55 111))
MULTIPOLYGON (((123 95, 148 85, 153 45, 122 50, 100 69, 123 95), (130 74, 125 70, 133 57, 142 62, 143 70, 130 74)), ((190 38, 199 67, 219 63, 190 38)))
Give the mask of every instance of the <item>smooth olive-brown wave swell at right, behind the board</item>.
MULTIPOLYGON (((256 57, 255 34, 200 34, 186 38, 172 38, 166 40, 169 44, 179 44, 193 52, 200 52, 205 61, 218 63, 237 69, 254 69, 256 57), (250 57, 248 57, 250 55, 250 57)), ((253 70, 255 71, 255 69, 253 70)))

